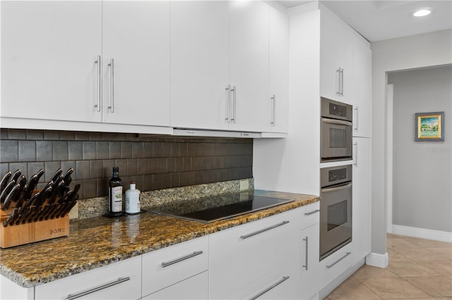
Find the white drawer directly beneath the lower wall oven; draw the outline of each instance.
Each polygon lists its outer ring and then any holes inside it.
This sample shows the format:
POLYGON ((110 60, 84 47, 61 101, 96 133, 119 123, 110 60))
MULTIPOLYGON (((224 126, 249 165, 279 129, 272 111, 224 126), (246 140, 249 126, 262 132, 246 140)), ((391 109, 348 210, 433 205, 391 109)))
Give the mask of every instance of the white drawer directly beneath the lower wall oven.
POLYGON ((352 266, 352 244, 347 244, 320 262, 320 289, 352 266))

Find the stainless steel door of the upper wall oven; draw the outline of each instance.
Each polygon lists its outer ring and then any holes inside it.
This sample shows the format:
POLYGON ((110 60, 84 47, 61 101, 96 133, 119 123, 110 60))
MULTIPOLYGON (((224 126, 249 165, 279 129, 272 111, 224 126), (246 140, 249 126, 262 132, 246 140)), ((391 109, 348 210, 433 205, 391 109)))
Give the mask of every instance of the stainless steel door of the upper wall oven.
POLYGON ((352 123, 322 118, 321 160, 347 160, 352 158, 352 123))

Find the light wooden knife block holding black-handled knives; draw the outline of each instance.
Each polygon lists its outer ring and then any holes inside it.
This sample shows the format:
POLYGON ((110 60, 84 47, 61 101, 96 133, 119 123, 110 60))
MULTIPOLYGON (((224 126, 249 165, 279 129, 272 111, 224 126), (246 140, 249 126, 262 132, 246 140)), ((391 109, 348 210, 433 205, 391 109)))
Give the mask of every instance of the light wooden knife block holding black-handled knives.
POLYGON ((13 209, 0 210, 0 248, 5 249, 69 235, 69 214, 61 218, 4 227, 3 223, 13 209))

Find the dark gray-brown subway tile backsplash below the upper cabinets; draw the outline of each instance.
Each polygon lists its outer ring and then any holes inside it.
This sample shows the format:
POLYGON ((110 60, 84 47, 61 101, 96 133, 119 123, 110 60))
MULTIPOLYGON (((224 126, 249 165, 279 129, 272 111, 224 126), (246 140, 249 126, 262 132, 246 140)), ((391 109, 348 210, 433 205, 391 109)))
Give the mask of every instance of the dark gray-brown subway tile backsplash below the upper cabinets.
POLYGON ((135 134, 2 128, 0 171, 20 168, 29 178, 43 168, 42 188, 61 168, 74 168, 81 199, 107 196, 112 168, 124 189, 141 191, 251 178, 252 139, 138 137, 135 134))

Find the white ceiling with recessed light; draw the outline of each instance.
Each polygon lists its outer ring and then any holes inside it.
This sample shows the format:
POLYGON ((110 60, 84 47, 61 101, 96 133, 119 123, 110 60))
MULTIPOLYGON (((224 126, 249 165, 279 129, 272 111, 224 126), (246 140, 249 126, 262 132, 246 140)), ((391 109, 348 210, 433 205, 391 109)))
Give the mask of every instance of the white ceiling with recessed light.
MULTIPOLYGON (((279 1, 285 7, 311 1, 279 1)), ((326 7, 371 42, 452 28, 452 0, 321 0, 326 7), (420 8, 432 13, 414 17, 420 8)))

